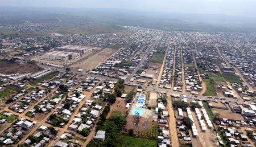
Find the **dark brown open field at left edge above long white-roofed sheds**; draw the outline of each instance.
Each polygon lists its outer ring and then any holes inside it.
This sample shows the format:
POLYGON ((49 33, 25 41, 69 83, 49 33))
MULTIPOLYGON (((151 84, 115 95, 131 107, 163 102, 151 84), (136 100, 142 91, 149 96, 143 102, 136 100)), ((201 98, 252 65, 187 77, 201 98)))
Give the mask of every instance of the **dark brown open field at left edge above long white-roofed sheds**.
POLYGON ((0 60, 0 73, 1 74, 14 74, 14 73, 36 73, 41 71, 42 68, 35 64, 19 64, 17 62, 11 63, 7 60, 0 60))

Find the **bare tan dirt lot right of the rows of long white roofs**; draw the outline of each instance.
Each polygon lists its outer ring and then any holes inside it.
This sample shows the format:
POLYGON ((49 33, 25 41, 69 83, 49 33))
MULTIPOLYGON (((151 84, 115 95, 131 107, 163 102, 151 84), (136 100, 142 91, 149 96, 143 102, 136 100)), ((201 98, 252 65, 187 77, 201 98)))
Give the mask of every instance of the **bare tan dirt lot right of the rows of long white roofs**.
POLYGON ((228 118, 228 119, 235 119, 235 120, 244 120, 243 116, 238 113, 233 113, 230 108, 228 110, 223 110, 223 109, 216 109, 212 108, 211 109, 213 113, 219 113, 221 118, 228 118))

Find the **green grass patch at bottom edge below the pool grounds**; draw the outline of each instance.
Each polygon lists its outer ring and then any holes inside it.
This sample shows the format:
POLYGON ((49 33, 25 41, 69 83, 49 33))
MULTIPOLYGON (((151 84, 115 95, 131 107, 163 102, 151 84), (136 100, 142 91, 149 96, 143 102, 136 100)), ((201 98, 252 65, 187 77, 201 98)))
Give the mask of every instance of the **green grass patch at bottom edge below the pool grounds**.
POLYGON ((144 139, 135 136, 118 135, 116 147, 157 147, 157 140, 144 139))

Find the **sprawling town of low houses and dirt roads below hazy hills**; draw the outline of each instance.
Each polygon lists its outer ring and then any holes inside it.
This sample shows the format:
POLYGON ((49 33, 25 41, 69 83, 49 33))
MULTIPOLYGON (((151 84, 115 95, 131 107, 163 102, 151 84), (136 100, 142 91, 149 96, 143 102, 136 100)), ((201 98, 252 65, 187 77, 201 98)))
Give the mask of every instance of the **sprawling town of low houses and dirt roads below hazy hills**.
POLYGON ((0 8, 0 147, 256 146, 252 28, 0 8))

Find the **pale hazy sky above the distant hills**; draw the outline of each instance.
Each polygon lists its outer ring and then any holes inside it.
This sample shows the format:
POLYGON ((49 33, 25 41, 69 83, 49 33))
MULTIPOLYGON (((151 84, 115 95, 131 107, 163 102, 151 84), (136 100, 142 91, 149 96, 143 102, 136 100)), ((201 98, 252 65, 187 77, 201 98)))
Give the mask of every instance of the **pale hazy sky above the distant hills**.
POLYGON ((0 0, 0 5, 127 8, 193 14, 227 14, 256 17, 256 0, 0 0))

